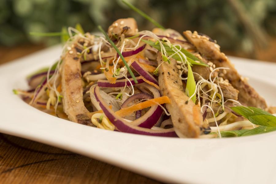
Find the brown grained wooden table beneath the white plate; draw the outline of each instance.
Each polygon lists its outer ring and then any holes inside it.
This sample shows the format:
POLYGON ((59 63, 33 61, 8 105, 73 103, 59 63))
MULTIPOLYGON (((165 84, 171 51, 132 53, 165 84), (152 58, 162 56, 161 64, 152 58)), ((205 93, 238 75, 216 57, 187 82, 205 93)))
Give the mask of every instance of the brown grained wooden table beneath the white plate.
MULTIPOLYGON (((0 47, 0 64, 39 46, 0 47)), ((0 183, 159 183, 79 154, 0 133, 0 183)))

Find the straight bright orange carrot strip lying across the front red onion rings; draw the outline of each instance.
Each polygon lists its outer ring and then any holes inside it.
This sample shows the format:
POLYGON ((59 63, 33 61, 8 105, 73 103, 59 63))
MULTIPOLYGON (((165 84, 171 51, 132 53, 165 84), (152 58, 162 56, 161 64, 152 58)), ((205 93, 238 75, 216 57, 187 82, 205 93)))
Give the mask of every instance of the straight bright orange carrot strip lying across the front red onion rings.
POLYGON ((163 104, 163 103, 171 103, 170 98, 168 98, 168 96, 163 96, 163 97, 149 99, 145 102, 140 102, 140 103, 137 103, 130 107, 120 109, 120 110, 116 111, 115 113, 120 117, 125 117, 125 116, 132 114, 133 112, 135 112, 137 110, 142 110, 142 109, 151 107, 153 105, 163 104))

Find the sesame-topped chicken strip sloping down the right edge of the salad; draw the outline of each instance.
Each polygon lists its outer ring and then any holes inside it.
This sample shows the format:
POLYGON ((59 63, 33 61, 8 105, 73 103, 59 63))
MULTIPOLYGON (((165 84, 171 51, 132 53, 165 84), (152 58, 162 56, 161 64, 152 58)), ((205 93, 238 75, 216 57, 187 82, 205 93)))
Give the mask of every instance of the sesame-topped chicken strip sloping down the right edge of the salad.
POLYGON ((197 50, 213 62, 216 67, 227 67, 227 73, 224 74, 224 79, 228 79, 234 88, 239 90, 238 100, 246 105, 265 109, 267 107, 264 98, 262 98, 247 81, 238 74, 234 65, 220 52, 220 46, 208 37, 198 35, 196 32, 184 31, 184 36, 197 48, 197 50))

